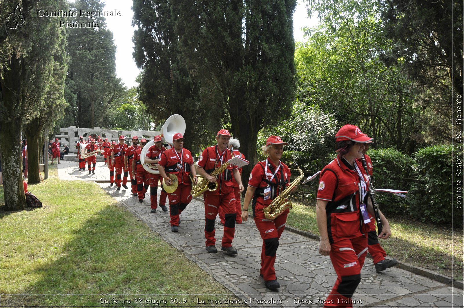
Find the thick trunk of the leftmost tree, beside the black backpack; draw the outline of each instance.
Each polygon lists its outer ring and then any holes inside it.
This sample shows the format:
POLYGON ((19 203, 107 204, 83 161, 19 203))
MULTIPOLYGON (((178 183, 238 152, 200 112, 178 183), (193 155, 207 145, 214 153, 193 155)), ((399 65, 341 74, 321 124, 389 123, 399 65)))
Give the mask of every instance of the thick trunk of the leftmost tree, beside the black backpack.
POLYGON ((1 164, 5 206, 8 211, 27 207, 22 180, 21 118, 0 122, 1 164))

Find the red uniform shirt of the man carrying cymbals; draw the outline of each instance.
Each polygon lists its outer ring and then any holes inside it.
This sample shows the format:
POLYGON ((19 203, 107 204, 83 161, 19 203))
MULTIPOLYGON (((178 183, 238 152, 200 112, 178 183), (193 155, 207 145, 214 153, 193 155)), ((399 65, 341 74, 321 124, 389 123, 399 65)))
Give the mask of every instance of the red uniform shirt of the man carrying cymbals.
POLYGON ((161 154, 158 165, 164 167, 166 173, 174 173, 177 175, 179 183, 191 184, 190 180, 190 165, 193 164, 192 153, 189 150, 182 148, 180 153, 177 153, 174 148, 170 148, 161 154), (182 167, 178 167, 180 164, 182 167), (175 170, 177 169, 177 170, 175 170))

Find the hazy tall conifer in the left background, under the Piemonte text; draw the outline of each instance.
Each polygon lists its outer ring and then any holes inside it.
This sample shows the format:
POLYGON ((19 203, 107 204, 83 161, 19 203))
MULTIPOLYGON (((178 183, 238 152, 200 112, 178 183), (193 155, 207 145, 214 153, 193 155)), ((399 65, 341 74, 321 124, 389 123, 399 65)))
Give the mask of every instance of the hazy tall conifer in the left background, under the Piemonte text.
MULTIPOLYGON (((88 12, 103 11, 98 0, 76 0, 71 8, 88 12)), ((98 27, 68 29, 68 52, 71 57, 67 78, 73 82, 79 127, 103 126, 108 106, 122 96, 124 87, 116 78, 116 46, 113 33, 106 28, 105 18, 86 16, 70 18, 70 22, 98 23, 98 27)), ((67 84, 70 84, 67 82, 67 84)), ((73 106, 70 104, 70 109, 73 106)))

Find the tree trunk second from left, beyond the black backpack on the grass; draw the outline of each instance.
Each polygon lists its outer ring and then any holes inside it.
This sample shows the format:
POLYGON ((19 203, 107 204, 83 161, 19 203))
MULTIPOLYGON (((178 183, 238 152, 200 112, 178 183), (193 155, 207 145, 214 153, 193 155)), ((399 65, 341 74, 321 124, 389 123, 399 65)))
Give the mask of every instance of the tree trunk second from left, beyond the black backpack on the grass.
MULTIPOLYGON (((27 183, 40 183, 39 174, 39 119, 33 119, 24 129, 27 139, 27 183)), ((41 149, 41 148, 40 148, 41 149)))

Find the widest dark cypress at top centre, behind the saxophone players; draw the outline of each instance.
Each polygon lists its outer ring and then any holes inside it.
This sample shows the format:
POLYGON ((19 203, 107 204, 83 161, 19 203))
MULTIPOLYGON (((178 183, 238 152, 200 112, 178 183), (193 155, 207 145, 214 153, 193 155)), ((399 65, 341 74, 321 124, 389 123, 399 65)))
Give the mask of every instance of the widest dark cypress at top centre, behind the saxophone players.
POLYGON ((295 90, 295 0, 174 0, 175 33, 192 76, 226 109, 230 130, 257 162, 258 131, 290 115, 295 90))

